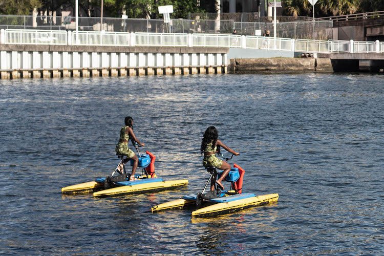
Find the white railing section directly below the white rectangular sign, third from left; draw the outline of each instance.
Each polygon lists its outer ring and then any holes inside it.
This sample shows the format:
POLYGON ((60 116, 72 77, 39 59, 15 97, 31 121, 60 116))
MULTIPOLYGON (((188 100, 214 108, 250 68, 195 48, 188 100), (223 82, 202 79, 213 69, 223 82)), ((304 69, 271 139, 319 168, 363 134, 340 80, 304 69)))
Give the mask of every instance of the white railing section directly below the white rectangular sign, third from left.
POLYGON ((188 34, 135 33, 136 46, 188 46, 188 34))

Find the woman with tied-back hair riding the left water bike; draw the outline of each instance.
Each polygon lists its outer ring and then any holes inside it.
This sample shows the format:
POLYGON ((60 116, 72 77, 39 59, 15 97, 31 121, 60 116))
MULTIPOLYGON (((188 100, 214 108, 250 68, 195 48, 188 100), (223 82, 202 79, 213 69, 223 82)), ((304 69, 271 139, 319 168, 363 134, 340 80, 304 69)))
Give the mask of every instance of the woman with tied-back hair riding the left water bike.
POLYGON ((136 156, 135 152, 131 150, 131 148, 128 147, 128 141, 132 139, 133 142, 137 142, 140 146, 144 146, 144 143, 141 143, 138 138, 136 138, 134 132, 133 132, 133 118, 130 116, 125 117, 124 119, 125 125, 121 127, 120 130, 120 139, 119 142, 116 145, 116 154, 117 155, 123 155, 126 156, 126 158, 123 160, 123 162, 118 166, 118 171, 122 174, 123 173, 123 164, 128 162, 129 160, 133 159, 134 163, 132 166, 132 173, 130 176, 130 181, 135 180, 135 173, 136 168, 139 163, 139 159, 136 156))

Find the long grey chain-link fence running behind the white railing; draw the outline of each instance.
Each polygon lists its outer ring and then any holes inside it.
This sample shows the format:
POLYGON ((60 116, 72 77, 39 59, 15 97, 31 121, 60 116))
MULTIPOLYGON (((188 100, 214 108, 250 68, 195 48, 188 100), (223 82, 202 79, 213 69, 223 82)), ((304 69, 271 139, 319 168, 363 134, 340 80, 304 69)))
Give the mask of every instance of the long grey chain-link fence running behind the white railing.
MULTIPOLYGON (((203 13, 202 18, 190 14, 191 19, 171 19, 165 24, 163 19, 122 19, 105 17, 79 17, 80 31, 106 32, 152 32, 152 33, 221 33, 230 34, 234 29, 237 34, 261 35, 267 30, 273 36, 273 20, 271 17, 259 17, 257 13, 223 13, 222 17, 233 19, 208 19, 213 13, 203 13), (263 22, 237 22, 236 20, 264 20, 263 22)), ((216 15, 216 13, 215 13, 216 15)), ((315 21, 315 38, 313 38, 313 21, 308 17, 279 16, 276 25, 276 36, 303 39, 332 39, 332 21, 315 21), (295 20, 288 22, 288 20, 295 20), (308 21, 306 21, 308 20, 308 21)), ((6 16, 0 15, 0 29, 38 29, 38 30, 75 30, 75 17, 71 16, 6 16)))

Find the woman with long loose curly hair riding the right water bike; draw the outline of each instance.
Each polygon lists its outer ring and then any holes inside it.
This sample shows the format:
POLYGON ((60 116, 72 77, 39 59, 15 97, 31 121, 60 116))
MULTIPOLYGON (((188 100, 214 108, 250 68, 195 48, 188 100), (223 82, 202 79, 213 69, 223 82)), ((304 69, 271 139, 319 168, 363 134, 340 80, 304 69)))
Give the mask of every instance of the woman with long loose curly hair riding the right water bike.
MULTIPOLYGON (((215 126, 209 126, 204 133, 203 140, 201 141, 201 155, 204 153, 203 166, 206 168, 208 166, 214 166, 218 169, 224 170, 223 174, 216 181, 216 183, 224 189, 222 180, 228 175, 231 166, 229 163, 216 157, 216 154, 220 153, 220 147, 223 147, 224 150, 232 153, 233 155, 239 156, 240 153, 233 151, 230 147, 226 146, 223 142, 218 140, 219 133, 216 130, 215 126)), ((212 179, 210 184, 210 190, 215 190, 214 179, 212 179)))

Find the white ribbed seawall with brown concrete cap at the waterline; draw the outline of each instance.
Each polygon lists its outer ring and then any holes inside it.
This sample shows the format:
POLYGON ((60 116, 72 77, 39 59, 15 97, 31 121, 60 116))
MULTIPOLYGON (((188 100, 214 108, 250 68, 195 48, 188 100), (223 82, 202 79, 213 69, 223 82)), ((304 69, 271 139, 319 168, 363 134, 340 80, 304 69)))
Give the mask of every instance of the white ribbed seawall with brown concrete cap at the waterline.
POLYGON ((0 45, 2 79, 221 74, 227 48, 0 45))

